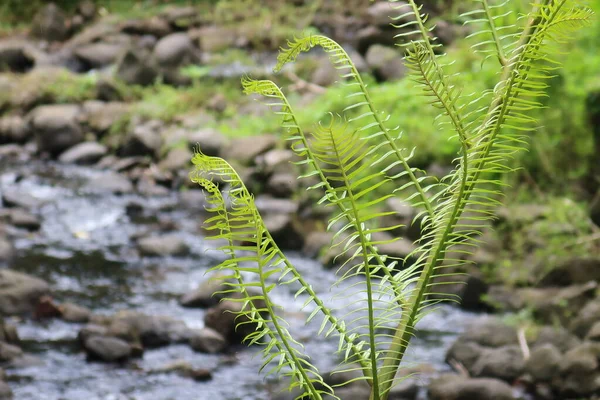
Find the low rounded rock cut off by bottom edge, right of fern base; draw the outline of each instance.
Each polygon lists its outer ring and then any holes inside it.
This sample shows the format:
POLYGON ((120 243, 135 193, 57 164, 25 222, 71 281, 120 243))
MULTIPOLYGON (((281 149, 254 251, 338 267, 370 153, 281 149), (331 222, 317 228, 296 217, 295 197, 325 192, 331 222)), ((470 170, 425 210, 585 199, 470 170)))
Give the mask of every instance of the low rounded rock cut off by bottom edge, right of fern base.
POLYGON ((512 388, 497 379, 443 375, 429 385, 431 400, 513 400, 512 388))

